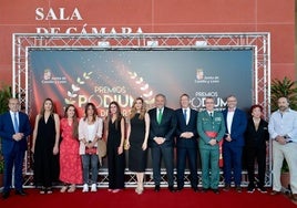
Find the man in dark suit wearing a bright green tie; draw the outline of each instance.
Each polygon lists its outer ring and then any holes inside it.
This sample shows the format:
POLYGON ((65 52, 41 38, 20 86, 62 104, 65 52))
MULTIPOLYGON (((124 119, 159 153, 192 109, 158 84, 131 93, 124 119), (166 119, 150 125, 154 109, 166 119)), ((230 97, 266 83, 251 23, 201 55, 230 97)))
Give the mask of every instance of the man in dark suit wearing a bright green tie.
POLYGON ((155 96, 155 108, 148 111, 151 118, 148 145, 151 147, 155 191, 160 191, 161 160, 164 159, 170 191, 174 190, 173 159, 176 116, 172 108, 165 106, 163 94, 155 96))

